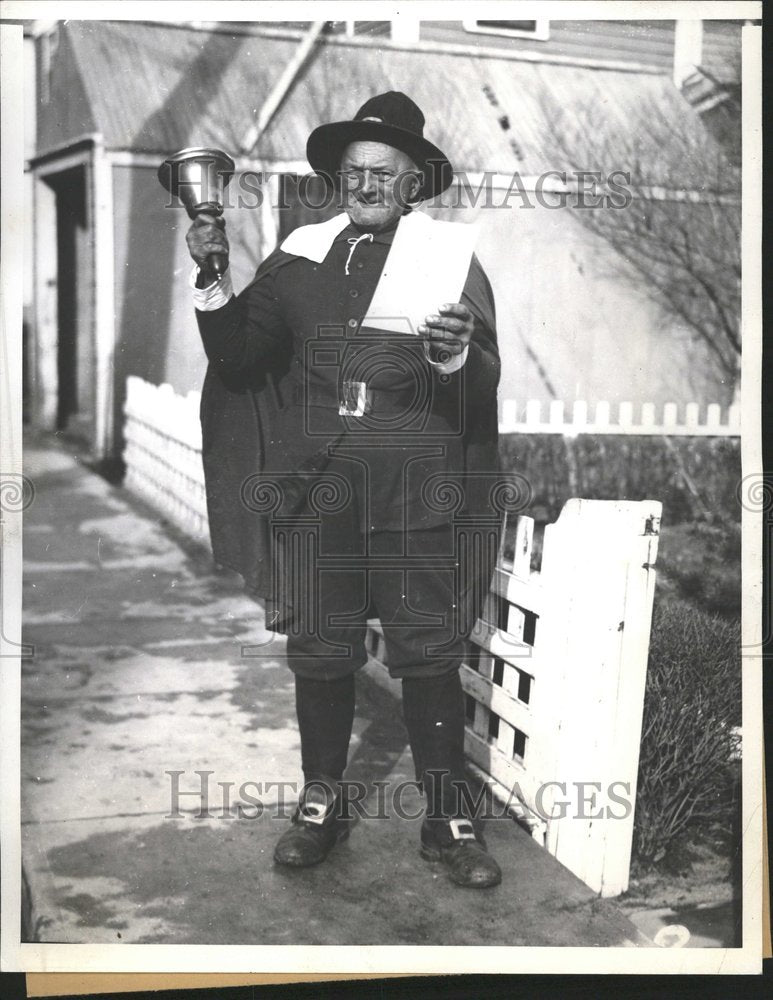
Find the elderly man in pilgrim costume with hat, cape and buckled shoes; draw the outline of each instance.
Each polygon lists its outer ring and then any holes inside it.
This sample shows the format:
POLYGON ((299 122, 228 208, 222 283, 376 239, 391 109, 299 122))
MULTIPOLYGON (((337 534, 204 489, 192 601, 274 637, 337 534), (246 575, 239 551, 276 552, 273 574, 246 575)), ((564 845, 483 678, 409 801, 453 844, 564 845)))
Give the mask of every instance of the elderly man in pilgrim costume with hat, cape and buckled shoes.
POLYGON ((291 233, 238 296, 228 271, 218 278, 209 266, 210 254, 228 252, 222 222, 191 226, 210 360, 204 460, 216 558, 266 599, 295 675, 305 783, 275 861, 317 864, 349 833, 340 789, 354 675, 367 660, 366 621, 378 617, 427 798, 421 854, 457 884, 485 887, 501 873, 459 794, 459 668, 496 554, 493 297, 468 255, 459 301, 437 303, 417 328, 385 333, 368 317, 377 286, 404 264, 405 250, 390 257, 398 234, 424 259, 438 253, 441 224, 413 208, 453 171, 423 128, 396 92, 317 128, 308 159, 345 214, 291 233), (251 504, 271 486, 270 509, 251 504), (476 535, 482 521, 489 530, 476 535))

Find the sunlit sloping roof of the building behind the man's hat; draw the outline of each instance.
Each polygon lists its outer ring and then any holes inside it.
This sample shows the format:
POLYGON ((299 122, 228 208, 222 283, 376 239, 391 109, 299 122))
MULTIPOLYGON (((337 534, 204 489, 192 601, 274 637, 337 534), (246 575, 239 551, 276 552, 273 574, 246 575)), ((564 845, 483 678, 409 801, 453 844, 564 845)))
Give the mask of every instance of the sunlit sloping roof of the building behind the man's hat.
MULTIPOLYGON (((167 155, 212 144, 238 155, 298 45, 275 33, 142 22, 70 21, 57 30, 49 99, 39 112, 40 152, 98 131, 109 149, 167 155)), ((303 161, 313 128, 350 118, 369 96, 391 89, 410 94, 425 112, 427 136, 468 172, 529 175, 555 167, 551 108, 571 115, 596 107, 610 133, 625 130, 648 105, 678 130, 700 127, 670 78, 657 73, 546 65, 473 47, 459 54, 323 41, 255 155, 303 161)), ((649 155, 657 160, 656 145, 649 155)))

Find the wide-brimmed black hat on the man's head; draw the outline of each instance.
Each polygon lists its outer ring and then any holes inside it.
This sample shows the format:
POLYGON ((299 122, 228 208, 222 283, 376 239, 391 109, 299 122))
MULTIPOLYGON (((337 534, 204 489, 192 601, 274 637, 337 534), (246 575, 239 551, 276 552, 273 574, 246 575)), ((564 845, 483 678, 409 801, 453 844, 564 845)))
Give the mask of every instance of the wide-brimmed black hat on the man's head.
POLYGON ((424 176, 422 199, 434 198, 454 179, 448 157, 424 138, 420 108, 399 91, 371 97, 351 121, 315 128, 306 144, 306 158, 316 173, 334 182, 350 142, 383 142, 410 156, 424 176))

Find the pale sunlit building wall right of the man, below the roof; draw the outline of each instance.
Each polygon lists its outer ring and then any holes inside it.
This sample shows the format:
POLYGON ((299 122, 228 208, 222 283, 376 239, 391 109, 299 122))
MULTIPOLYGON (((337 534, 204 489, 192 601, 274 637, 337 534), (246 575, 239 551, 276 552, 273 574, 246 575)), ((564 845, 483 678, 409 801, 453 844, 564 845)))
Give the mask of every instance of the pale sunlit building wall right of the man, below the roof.
POLYGON ((501 398, 730 402, 703 345, 622 277, 613 251, 570 210, 518 204, 432 213, 480 223, 501 398))

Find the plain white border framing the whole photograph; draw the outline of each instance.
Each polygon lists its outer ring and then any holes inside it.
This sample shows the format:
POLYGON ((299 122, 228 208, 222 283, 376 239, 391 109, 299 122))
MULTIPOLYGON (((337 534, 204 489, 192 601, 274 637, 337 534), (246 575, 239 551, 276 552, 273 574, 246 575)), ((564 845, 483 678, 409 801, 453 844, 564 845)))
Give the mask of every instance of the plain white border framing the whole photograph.
MULTIPOLYGON (((54 17, 84 20, 179 20, 178 3, 84 3, 82 0, 0 4, 0 19, 24 20, 54 17), (99 17, 93 11, 99 11, 99 17)), ((761 16, 758 3, 607 2, 513 4, 519 15, 538 7, 541 17, 558 15, 569 20, 672 19, 679 14, 701 19, 751 18, 761 16)), ((192 0, 186 3, 186 20, 292 20, 311 11, 307 3, 233 4, 192 0)), ((368 19, 380 14, 394 16, 398 5, 374 2, 368 19)), ((468 4, 454 2, 411 4, 411 17, 438 19, 458 13, 468 4)), ((351 14, 352 3, 326 3, 325 11, 351 14)), ((361 5, 359 9, 362 10, 361 5)), ((404 6, 401 7, 404 10, 404 6)), ((476 4, 476 13, 487 9, 504 13, 502 4, 476 4)), ((320 5, 313 5, 318 17, 320 5)), ((345 19, 345 18, 342 18, 345 19)), ((743 477, 762 476, 760 435, 761 405, 761 29, 746 25, 743 31, 743 310, 744 350, 742 360, 742 466, 743 477)), ((24 239, 24 178, 21 150, 23 106, 21 26, 4 23, 0 38, 2 56, 2 337, 0 367, 4 370, 5 395, 0 410, 3 478, 22 473, 21 454, 21 257, 24 239)), ((229 945, 135 945, 135 944, 21 944, 20 936, 20 662, 13 655, 21 641, 21 520, 22 512, 3 515, 2 598, 4 634, 0 639, 0 767, 2 798, 2 945, 0 965, 4 970, 61 972, 202 972, 228 969, 244 972, 381 973, 381 972, 546 972, 556 968, 575 973, 649 973, 653 971, 653 949, 573 947, 450 947, 450 946, 229 946, 229 945)), ((657 951, 660 973, 758 972, 762 942, 762 634, 761 537, 763 511, 745 508, 743 531, 743 946, 734 949, 686 949, 657 951), (760 652, 757 652, 760 650, 760 652)))

